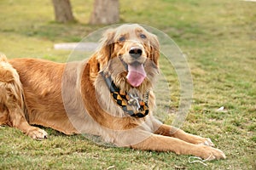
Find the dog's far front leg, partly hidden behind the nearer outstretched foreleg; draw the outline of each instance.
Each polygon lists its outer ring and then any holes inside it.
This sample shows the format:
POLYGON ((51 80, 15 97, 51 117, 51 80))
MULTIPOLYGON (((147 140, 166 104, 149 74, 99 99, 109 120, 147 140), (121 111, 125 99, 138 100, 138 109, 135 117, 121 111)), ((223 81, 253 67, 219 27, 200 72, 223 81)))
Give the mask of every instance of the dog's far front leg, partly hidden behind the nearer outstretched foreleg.
POLYGON ((202 138, 200 136, 190 133, 185 133, 183 130, 178 129, 177 127, 168 126, 166 124, 160 125, 160 127, 154 133, 181 139, 191 144, 204 144, 208 146, 214 146, 211 139, 202 138))

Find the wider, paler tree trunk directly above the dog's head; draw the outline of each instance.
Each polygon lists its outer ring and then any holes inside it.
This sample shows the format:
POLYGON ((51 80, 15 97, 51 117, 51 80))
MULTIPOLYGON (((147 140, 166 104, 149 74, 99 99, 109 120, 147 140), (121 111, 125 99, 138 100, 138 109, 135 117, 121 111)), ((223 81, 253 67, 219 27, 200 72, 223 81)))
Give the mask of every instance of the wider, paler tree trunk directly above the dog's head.
POLYGON ((119 0, 95 0, 90 24, 113 24, 119 21, 119 0))

